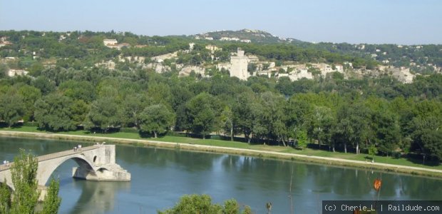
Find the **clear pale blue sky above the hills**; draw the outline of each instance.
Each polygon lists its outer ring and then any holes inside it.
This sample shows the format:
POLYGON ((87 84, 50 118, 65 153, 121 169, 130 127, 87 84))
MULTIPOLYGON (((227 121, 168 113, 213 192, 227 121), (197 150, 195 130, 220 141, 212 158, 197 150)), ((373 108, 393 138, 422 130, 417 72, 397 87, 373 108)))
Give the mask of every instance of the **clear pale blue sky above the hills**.
POLYGON ((440 0, 0 0, 0 30, 147 36, 258 29, 351 44, 442 44, 440 0))

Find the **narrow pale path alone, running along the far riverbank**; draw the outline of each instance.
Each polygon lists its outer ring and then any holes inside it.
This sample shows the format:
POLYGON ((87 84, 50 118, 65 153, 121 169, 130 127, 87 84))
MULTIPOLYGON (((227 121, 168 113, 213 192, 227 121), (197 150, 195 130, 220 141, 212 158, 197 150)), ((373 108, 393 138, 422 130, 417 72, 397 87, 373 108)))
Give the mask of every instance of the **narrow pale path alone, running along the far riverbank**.
POLYGON ((271 156, 279 156, 284 158, 297 158, 299 160, 304 161, 315 161, 317 162, 327 162, 329 163, 341 163, 341 165, 345 165, 345 163, 349 163, 349 165, 359 165, 361 167, 365 168, 388 168, 391 170, 418 170, 418 171, 424 171, 424 172, 431 172, 431 173, 441 173, 442 177, 442 170, 438 169, 431 169, 431 168, 420 168, 420 167, 413 167, 413 166, 407 166, 407 165, 394 165, 389 163, 371 163, 366 161, 354 161, 354 160, 347 160, 342 158, 327 158, 327 157, 321 157, 321 156, 307 156, 307 155, 300 155, 300 154, 293 154, 293 153, 280 153, 280 152, 274 152, 274 151, 260 151, 260 150, 253 150, 253 149, 247 149, 247 148, 230 148, 230 147, 222 147, 222 146, 206 146, 206 145, 198 145, 198 144, 190 144, 190 143, 173 143, 173 142, 163 142, 163 141, 151 141, 151 140, 138 140, 138 139, 127 139, 127 138, 110 138, 110 137, 99 137, 99 136, 76 136, 76 135, 67 135, 67 134, 58 134, 58 133, 34 133, 34 132, 22 132, 22 131, 0 131, 0 135, 3 136, 14 136, 14 135, 20 135, 20 136, 31 136, 31 137, 37 137, 37 138, 57 138, 57 137, 69 137, 69 138, 75 138, 72 140, 81 140, 81 139, 98 139, 102 141, 118 141, 121 143, 145 143, 152 146, 158 146, 158 147, 168 147, 168 148, 174 148, 175 146, 179 145, 180 148, 190 148, 200 151, 220 151, 220 152, 229 152, 235 153, 235 154, 242 154, 247 153, 250 155, 257 155, 260 154, 266 154, 271 156))

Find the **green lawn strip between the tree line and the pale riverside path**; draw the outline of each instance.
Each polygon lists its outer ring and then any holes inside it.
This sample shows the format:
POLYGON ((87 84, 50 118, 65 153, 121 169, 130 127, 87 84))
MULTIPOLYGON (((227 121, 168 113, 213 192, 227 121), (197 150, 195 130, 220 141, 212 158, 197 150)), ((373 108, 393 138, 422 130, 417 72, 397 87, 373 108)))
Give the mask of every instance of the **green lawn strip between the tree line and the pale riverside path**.
MULTIPOLYGON (((23 126, 20 128, 0 128, 0 130, 4 131, 24 131, 24 132, 39 132, 39 133, 48 133, 46 131, 38 131, 36 127, 32 126, 23 126)), ((138 139, 138 140, 152 140, 152 141, 164 141, 164 142, 173 142, 173 143, 192 143, 199 145, 207 145, 207 146, 223 146, 223 147, 231 147, 231 148, 248 148, 254 149, 258 151, 275 151, 281 153, 296 153, 307 156, 321 156, 321 157, 329 157, 329 158, 343 158, 347 160, 355 160, 355 161, 366 161, 367 154, 359 154, 356 155, 354 153, 341 153, 341 152, 329 152, 316 150, 311 148, 306 148, 304 151, 300 151, 290 147, 284 146, 264 146, 264 145, 249 145, 247 143, 236 142, 236 141, 222 141, 215 139, 200 139, 200 138, 187 138, 187 137, 178 137, 178 136, 164 136, 161 138, 141 138, 138 133, 90 133, 88 131, 66 131, 66 132, 58 132, 58 134, 70 134, 70 135, 78 135, 78 136, 101 136, 108 138, 127 138, 127 139, 138 139)), ((406 158, 391 158, 385 156, 375 156, 374 161, 376 163, 389 163, 396 165, 408 165, 415 167, 423 167, 423 168, 433 168, 442 170, 442 165, 422 165, 422 160, 415 160, 413 163, 406 158)))

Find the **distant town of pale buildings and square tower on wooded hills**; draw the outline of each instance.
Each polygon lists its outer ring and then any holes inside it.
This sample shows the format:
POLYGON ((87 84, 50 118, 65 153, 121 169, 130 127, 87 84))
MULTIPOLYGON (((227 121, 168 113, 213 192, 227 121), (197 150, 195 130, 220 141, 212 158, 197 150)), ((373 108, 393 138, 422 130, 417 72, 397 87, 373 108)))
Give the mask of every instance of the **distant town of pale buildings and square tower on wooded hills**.
MULTIPOLYGON (((66 39, 72 39, 71 33, 58 34, 58 42, 62 43, 63 41, 66 41, 66 39)), ((41 32, 40 36, 45 37, 46 33, 41 32)), ((78 36, 76 38, 78 41, 82 41, 86 38, 86 36, 78 34, 78 32, 76 32, 76 36, 78 36)), ((120 37, 121 36, 124 36, 124 34, 120 34, 120 37)), ((237 78, 240 78, 241 80, 247 80, 247 78, 249 78, 250 76, 267 76, 268 78, 277 79, 289 78, 290 81, 297 81, 302 78, 326 78, 327 75, 336 72, 341 73, 344 78, 363 78, 364 76, 376 78, 379 76, 392 76, 402 83, 411 83, 416 75, 426 74, 428 73, 428 70, 432 71, 432 73, 442 72, 441 66, 436 63, 416 63, 413 59, 410 59, 409 61, 407 61, 407 63, 403 63, 403 61, 401 61, 399 65, 398 63, 396 63, 396 66, 394 66, 394 59, 388 57, 390 55, 389 52, 381 48, 373 49, 372 45, 368 44, 358 44, 353 45, 352 47, 356 51, 364 52, 364 54, 368 56, 366 58, 372 59, 376 62, 376 66, 370 66, 370 68, 368 66, 354 66, 353 61, 327 63, 327 61, 319 62, 319 60, 315 60, 303 63, 301 61, 282 59, 275 60, 274 58, 272 59, 248 53, 247 50, 242 50, 242 48, 240 47, 240 44, 251 44, 252 41, 258 43, 265 42, 259 39, 266 37, 267 39, 271 38, 272 40, 270 41, 277 41, 278 43, 284 44, 300 42, 295 39, 284 39, 273 36, 263 31, 247 29, 242 31, 215 31, 206 34, 198 34, 195 36, 187 36, 187 38, 183 38, 183 41, 192 39, 195 40, 195 42, 189 42, 187 48, 170 51, 167 54, 160 54, 158 56, 149 57, 145 56, 145 54, 136 55, 133 53, 130 53, 130 56, 128 56, 128 54, 125 54, 125 49, 144 49, 148 48, 149 46, 157 46, 160 48, 162 46, 158 45, 157 42, 154 42, 154 44, 138 44, 134 41, 124 41, 124 39, 119 42, 117 39, 105 38, 102 39, 103 46, 106 46, 109 49, 116 49, 118 51, 121 51, 122 53, 113 58, 96 61, 96 63, 93 63, 93 65, 113 70, 117 67, 118 64, 131 63, 136 65, 138 68, 153 69, 155 72, 158 73, 176 70, 178 71, 179 76, 189 76, 190 73, 193 72, 202 77, 210 77, 211 73, 214 73, 211 70, 216 69, 217 71, 227 71, 230 76, 235 76, 237 78), (202 61, 197 63, 180 63, 180 58, 183 58, 186 54, 189 55, 195 51, 195 43, 197 43, 198 41, 204 41, 202 44, 197 45, 202 45, 204 47, 204 49, 207 51, 208 57, 203 58, 202 61), (215 41, 218 45, 212 43, 215 41), (239 45, 236 47, 235 51, 228 52, 228 58, 221 58, 219 56, 220 54, 217 53, 225 53, 226 51, 228 51, 222 49, 222 42, 230 42, 230 47, 234 46, 235 44, 239 45), (219 45, 220 43, 221 46, 219 45), (171 68, 172 65, 174 66, 174 68, 171 68), (427 72, 418 72, 421 71, 422 68, 425 68, 427 72)), ((21 35, 21 39, 25 38, 26 35, 21 35)), ((327 45, 329 44, 324 44, 323 46, 327 45)), ((21 53, 18 54, 19 56, 17 56, 17 54, 11 54, 11 51, 6 51, 11 46, 14 46, 14 42, 9 41, 9 36, 1 36, 0 50, 4 51, 2 51, 3 54, 1 54, 0 62, 13 65, 9 66, 8 71, 6 71, 6 74, 8 76, 23 76, 29 73, 29 71, 26 70, 26 68, 23 68, 23 66, 14 66, 14 62, 17 63, 21 60, 20 56, 26 56, 27 58, 31 56, 31 59, 33 59, 34 61, 41 61, 41 63, 43 63, 46 67, 55 65, 54 63, 56 61, 54 61, 52 58, 47 58, 46 60, 40 59, 43 49, 32 51, 21 49, 18 50, 21 53)), ((336 49, 336 44, 332 45, 332 48, 336 49)), ((413 52, 418 52, 423 51, 424 46, 394 45, 394 48, 404 49, 407 51, 409 49, 413 52)), ((201 50, 198 49, 197 51, 201 50)), ((442 49, 438 50, 438 52, 440 52, 438 56, 438 59, 440 60, 442 49)), ((201 53, 197 53, 197 55, 201 55, 201 53)), ((427 56, 424 56, 423 58, 418 58, 419 61, 422 61, 422 59, 428 61, 427 56)))

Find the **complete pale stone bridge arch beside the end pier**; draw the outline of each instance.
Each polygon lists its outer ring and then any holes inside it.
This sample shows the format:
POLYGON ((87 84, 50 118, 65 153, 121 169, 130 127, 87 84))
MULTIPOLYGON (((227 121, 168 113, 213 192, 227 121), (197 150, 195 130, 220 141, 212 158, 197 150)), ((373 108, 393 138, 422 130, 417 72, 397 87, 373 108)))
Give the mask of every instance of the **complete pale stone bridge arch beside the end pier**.
POLYGON ((67 156, 63 158, 54 158, 48 161, 41 161, 38 163, 38 173, 37 180, 38 185, 46 185, 53 171, 55 171, 61 164, 65 163, 68 160, 73 160, 78 164, 78 167, 81 170, 86 170, 93 174, 96 173, 96 170, 93 168, 93 162, 88 160, 86 156, 83 156, 80 153, 77 153, 73 156, 67 156))

